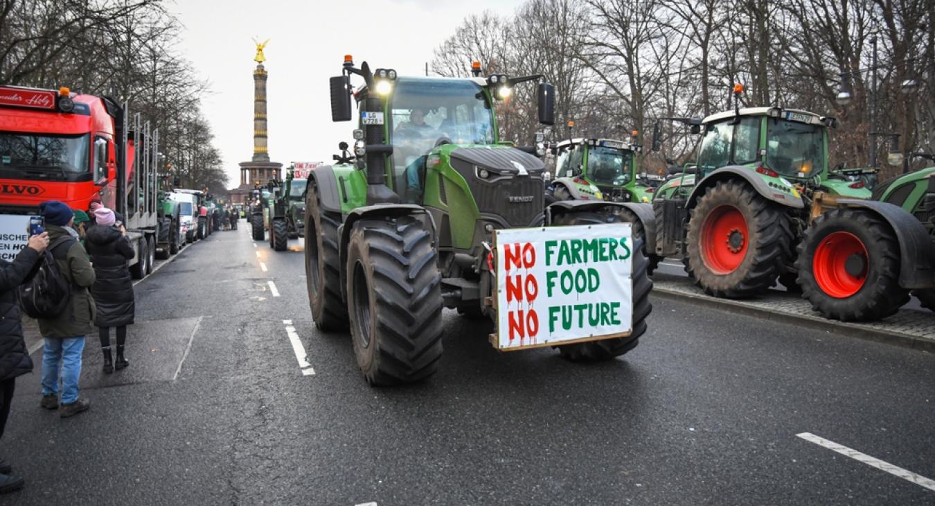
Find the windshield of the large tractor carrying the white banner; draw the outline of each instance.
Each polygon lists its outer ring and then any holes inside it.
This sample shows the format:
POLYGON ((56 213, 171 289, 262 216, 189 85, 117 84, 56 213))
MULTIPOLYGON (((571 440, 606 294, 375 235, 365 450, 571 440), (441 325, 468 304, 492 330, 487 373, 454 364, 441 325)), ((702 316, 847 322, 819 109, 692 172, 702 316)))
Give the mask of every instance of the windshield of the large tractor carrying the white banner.
POLYGON ((425 155, 441 144, 494 144, 487 94, 471 80, 403 78, 389 104, 397 190, 418 189, 425 155))

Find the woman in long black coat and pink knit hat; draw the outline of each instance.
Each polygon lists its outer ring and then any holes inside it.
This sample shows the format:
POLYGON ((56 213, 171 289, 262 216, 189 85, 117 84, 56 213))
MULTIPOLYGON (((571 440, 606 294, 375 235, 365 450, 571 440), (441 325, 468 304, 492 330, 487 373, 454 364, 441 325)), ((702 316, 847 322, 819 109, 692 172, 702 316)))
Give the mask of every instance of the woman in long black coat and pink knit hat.
POLYGON ((125 232, 114 226, 114 213, 107 208, 94 210, 96 224, 88 229, 84 247, 91 255, 94 266, 94 286, 91 295, 97 307, 94 325, 98 327, 101 351, 104 353, 104 372, 123 369, 130 362, 123 356, 126 343, 126 325, 133 325, 136 311, 133 281, 127 260, 133 258, 133 248, 125 232), (117 328, 117 360, 110 352, 110 327, 117 328))

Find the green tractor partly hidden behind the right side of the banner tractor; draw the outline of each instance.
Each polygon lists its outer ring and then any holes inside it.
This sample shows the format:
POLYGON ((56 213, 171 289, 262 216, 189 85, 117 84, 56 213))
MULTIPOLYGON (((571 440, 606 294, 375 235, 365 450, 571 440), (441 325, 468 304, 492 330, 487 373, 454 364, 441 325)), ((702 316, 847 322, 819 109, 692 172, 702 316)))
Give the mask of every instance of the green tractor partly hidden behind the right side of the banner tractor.
MULTIPOLYGON (((568 128, 572 126, 569 122, 568 128)), ((637 143, 637 135, 634 130, 629 142, 608 138, 569 138, 558 142, 554 148, 555 178, 546 188, 546 204, 558 200, 649 204, 655 189, 640 180, 642 146, 637 143)), ((633 224, 633 234, 640 238, 645 235, 644 223, 654 221, 649 206, 618 207, 614 211, 623 221, 633 224)), ((645 242, 643 253, 649 258, 652 274, 661 257, 647 250, 645 242)))

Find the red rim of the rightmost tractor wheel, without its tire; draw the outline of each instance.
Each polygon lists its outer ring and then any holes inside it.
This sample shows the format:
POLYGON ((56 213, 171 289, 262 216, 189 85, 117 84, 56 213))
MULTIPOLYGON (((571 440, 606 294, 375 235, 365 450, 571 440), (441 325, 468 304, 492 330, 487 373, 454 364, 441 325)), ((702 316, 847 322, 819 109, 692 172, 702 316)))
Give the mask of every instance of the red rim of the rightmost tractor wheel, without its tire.
POLYGON ((812 261, 815 282, 828 296, 853 296, 867 282, 868 257, 867 247, 854 234, 832 232, 815 248, 812 261), (850 269, 848 259, 852 262, 850 269), (855 262, 860 267, 855 268, 855 262))

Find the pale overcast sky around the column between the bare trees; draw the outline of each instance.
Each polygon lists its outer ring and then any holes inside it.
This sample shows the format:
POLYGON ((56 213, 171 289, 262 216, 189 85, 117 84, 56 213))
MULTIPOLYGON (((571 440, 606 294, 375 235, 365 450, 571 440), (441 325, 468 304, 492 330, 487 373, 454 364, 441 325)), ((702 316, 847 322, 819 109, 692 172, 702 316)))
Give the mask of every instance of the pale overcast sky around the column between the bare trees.
MULTIPOLYGON (((432 50, 468 14, 511 14, 522 0, 178 0, 185 30, 180 49, 195 73, 209 80, 203 108, 214 129, 230 187, 239 162, 253 153, 252 37, 266 46, 269 156, 288 166, 328 161, 338 142, 351 142, 351 123, 331 123, 327 79, 340 73, 344 54, 371 68, 424 75, 432 50), (367 20, 370 20, 368 22, 367 20)), ((358 80, 352 81, 355 85, 358 80)))

